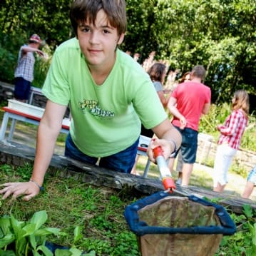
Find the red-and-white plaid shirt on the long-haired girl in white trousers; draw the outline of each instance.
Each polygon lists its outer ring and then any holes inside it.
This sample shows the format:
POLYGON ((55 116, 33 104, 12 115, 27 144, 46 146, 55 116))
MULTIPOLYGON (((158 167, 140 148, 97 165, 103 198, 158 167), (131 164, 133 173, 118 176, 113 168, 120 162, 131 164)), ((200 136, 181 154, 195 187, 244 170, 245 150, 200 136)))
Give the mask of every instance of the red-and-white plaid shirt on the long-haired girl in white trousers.
POLYGON ((248 119, 241 109, 232 111, 226 118, 224 126, 219 126, 221 134, 217 144, 227 143, 231 148, 239 149, 247 123, 248 119))

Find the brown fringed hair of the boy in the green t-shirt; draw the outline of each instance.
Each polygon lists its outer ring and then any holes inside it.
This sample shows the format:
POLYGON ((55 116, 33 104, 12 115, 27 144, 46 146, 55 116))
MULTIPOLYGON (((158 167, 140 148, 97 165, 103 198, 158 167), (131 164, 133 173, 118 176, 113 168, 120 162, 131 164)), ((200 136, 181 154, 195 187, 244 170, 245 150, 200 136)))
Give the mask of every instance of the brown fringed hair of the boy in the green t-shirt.
POLYGON ((69 17, 77 36, 78 24, 88 21, 95 24, 98 11, 103 10, 108 22, 116 28, 118 35, 126 33, 126 1, 125 0, 75 0, 71 4, 69 17))

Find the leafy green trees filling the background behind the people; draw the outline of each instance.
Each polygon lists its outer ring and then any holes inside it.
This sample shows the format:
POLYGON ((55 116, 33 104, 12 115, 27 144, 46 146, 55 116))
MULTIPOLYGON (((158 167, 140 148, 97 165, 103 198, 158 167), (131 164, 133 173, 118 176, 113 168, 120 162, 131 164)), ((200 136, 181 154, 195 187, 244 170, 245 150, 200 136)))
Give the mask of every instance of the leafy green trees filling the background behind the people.
MULTIPOLYGON (((71 1, 0 2, 1 79, 11 79, 19 47, 31 34, 39 34, 52 51, 73 36, 71 1)), ((214 103, 230 101, 240 88, 256 94, 256 1, 126 0, 126 7, 128 30, 121 48, 140 53, 140 63, 155 51, 157 60, 168 61, 180 74, 205 66, 214 103)))

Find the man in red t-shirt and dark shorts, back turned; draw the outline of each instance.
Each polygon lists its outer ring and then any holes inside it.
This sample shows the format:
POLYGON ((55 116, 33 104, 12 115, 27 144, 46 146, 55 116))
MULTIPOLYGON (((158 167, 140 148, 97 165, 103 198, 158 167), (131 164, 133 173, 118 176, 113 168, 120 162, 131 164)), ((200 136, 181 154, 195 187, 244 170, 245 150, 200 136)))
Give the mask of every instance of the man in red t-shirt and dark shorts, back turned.
MULTIPOLYGON (((180 83, 168 101, 173 126, 180 130, 183 137, 180 146, 183 156, 183 186, 189 183, 196 159, 200 116, 210 110, 211 91, 202 83, 204 78, 205 68, 195 66, 190 73, 190 81, 180 83)), ((173 160, 170 158, 170 161, 173 160)))

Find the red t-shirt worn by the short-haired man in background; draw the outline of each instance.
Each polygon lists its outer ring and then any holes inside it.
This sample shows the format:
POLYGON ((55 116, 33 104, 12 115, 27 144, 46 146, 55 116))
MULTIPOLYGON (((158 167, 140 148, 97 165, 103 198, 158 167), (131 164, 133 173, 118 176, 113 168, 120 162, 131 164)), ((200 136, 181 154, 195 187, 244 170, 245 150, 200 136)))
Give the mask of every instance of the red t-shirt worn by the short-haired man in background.
MULTIPOLYGON (((210 103, 211 91, 203 83, 188 81, 180 83, 172 93, 178 111, 186 118, 186 128, 198 130, 200 116, 205 103, 210 103)), ((174 126, 180 127, 178 118, 173 117, 174 126)))

